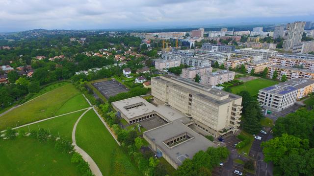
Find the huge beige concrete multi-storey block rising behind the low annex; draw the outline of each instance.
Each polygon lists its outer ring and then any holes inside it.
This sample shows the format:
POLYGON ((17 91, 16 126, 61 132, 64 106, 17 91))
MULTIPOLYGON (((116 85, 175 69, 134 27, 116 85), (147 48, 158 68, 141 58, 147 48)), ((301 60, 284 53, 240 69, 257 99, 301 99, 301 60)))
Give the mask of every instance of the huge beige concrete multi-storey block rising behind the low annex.
POLYGON ((172 75, 152 78, 152 95, 189 116, 202 132, 218 137, 238 131, 241 96, 172 75))

